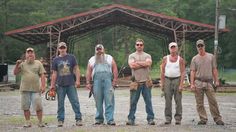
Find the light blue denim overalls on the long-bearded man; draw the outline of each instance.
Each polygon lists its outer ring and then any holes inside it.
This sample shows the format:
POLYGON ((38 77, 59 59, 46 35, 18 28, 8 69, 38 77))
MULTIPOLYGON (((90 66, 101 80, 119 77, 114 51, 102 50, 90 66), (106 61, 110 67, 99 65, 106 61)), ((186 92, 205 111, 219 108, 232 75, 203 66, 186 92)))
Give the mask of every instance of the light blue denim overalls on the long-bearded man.
POLYGON ((93 78, 93 92, 94 99, 96 103, 96 122, 103 123, 103 102, 105 102, 105 118, 107 122, 114 121, 114 89, 112 87, 111 82, 111 74, 110 73, 99 73, 95 74, 93 78))

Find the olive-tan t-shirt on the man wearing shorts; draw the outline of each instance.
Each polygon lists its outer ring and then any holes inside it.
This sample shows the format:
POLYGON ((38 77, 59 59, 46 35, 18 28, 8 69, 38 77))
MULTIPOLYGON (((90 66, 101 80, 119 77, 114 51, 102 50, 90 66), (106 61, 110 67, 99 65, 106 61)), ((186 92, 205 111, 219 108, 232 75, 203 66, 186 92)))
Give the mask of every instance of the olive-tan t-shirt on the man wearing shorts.
POLYGON ((42 63, 35 60, 33 63, 27 61, 20 65, 21 85, 20 91, 40 92, 40 75, 46 73, 42 63))

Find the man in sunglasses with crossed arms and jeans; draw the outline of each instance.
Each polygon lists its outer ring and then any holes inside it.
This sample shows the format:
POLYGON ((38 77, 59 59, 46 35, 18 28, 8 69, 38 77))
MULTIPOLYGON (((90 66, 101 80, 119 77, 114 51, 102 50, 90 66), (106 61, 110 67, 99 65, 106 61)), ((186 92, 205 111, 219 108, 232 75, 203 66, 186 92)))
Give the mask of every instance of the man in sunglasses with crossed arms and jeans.
POLYGON ((150 79, 149 72, 152 65, 152 58, 143 51, 144 41, 142 39, 136 40, 135 48, 136 52, 129 55, 128 63, 132 69, 133 80, 138 83, 138 88, 137 90, 130 90, 130 109, 126 125, 135 125, 135 112, 141 92, 146 104, 145 108, 148 124, 155 125, 151 100, 151 87, 147 87, 145 83, 150 79))

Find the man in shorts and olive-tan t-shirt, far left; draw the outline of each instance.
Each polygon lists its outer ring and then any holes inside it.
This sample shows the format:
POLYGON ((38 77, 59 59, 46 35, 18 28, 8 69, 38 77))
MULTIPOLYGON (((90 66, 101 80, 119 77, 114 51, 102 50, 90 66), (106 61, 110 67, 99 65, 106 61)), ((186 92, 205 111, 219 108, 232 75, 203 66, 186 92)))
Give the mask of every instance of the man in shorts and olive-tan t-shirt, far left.
POLYGON ((45 92, 45 70, 42 63, 38 60, 35 60, 35 53, 33 48, 26 49, 25 59, 26 60, 17 60, 16 66, 14 68, 15 75, 21 73, 21 108, 24 111, 26 120, 24 127, 31 127, 31 104, 33 104, 33 108, 34 110, 36 110, 38 126, 44 127, 42 123, 43 107, 41 94, 45 92))

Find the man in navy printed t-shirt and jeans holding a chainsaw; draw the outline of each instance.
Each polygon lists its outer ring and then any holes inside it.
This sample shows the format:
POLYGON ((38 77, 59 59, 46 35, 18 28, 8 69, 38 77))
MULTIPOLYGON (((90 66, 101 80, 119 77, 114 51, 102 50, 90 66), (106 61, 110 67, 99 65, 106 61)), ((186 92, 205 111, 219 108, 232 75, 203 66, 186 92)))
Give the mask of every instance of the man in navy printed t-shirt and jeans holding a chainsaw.
POLYGON ((59 56, 53 59, 51 90, 56 90, 58 99, 58 127, 62 127, 65 119, 65 96, 69 98, 75 112, 76 126, 82 126, 82 115, 77 94, 80 87, 80 71, 74 55, 67 54, 65 42, 58 44, 59 56))

